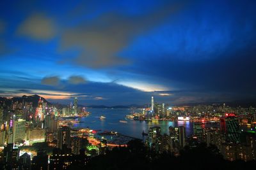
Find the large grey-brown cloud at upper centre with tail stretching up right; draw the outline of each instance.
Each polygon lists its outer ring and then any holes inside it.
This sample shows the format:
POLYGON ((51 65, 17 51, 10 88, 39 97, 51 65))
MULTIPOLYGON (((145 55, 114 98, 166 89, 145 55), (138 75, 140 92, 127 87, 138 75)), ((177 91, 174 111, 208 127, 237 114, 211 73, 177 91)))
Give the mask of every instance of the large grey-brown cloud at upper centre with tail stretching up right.
POLYGON ((130 61, 119 53, 131 42, 134 36, 144 33, 174 15, 182 3, 166 4, 152 13, 140 17, 125 17, 119 13, 104 13, 86 24, 65 31, 61 38, 60 50, 79 50, 75 64, 101 68, 128 64, 130 61))

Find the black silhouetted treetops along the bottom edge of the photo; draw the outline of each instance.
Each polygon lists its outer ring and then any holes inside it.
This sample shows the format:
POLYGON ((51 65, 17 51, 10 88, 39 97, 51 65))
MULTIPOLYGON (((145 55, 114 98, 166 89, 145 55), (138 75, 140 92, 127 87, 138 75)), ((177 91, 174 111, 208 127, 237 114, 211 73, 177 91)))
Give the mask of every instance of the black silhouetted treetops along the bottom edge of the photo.
POLYGON ((195 148, 185 147, 180 156, 164 152, 152 154, 141 141, 130 141, 127 148, 113 148, 106 155, 93 157, 86 169, 252 169, 255 161, 224 160, 216 146, 204 143, 195 148))

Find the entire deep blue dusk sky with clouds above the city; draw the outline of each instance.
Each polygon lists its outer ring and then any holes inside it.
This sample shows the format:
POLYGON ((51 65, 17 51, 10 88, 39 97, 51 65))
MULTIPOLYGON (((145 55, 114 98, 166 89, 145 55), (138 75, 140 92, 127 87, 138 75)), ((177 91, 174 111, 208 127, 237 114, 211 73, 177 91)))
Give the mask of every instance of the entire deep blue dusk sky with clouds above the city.
POLYGON ((256 101, 256 1, 0 1, 0 96, 256 101))

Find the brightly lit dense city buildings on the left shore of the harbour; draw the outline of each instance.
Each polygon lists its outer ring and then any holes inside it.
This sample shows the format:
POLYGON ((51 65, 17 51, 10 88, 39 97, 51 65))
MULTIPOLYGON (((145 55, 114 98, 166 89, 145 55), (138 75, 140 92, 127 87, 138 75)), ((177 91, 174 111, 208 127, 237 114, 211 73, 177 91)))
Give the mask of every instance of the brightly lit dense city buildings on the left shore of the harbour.
POLYGON ((0 169, 66 169, 77 162, 85 165, 88 157, 82 148, 88 144, 87 139, 72 136, 71 128, 60 119, 83 111, 77 107, 77 97, 74 106, 56 108, 41 97, 36 105, 24 101, 0 103, 0 169), (56 148, 51 156, 44 150, 33 157, 21 151, 23 146, 42 142, 56 148))

